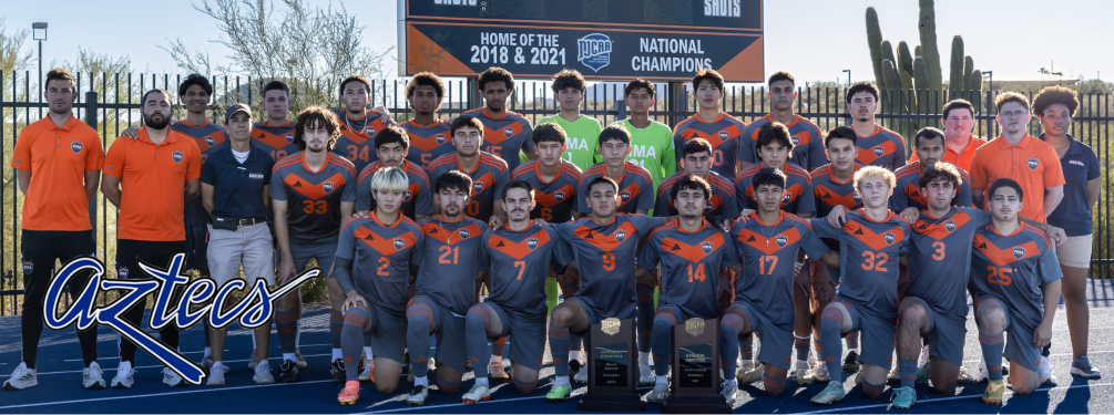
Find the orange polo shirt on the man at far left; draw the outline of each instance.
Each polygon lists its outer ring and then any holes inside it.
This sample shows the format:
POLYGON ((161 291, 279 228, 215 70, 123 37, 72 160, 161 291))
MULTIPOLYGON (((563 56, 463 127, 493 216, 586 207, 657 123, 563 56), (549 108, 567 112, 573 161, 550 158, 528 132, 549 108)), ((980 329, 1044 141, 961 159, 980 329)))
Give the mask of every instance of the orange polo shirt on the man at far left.
POLYGON ((31 171, 23 201, 27 230, 89 230, 85 172, 100 170, 105 151, 97 130, 70 115, 58 127, 45 117, 19 131, 11 158, 14 169, 31 171))

